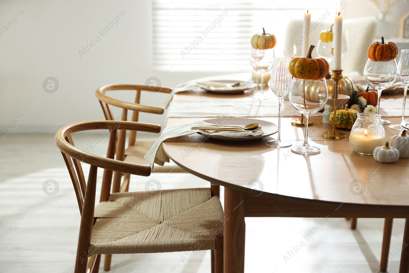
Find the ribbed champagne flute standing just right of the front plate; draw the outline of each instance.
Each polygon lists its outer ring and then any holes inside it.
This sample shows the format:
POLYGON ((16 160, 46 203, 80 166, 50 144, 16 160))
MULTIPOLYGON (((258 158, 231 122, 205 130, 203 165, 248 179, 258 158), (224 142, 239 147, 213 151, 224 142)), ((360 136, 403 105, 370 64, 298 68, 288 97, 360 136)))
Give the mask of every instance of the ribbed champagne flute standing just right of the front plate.
POLYGON ((267 145, 273 147, 290 147, 291 142, 281 141, 280 127, 281 127, 281 104, 284 97, 290 92, 291 74, 288 67, 290 65, 290 57, 275 57, 273 59, 273 66, 271 71, 270 88, 274 95, 279 99, 279 132, 277 140, 267 141, 267 145))

